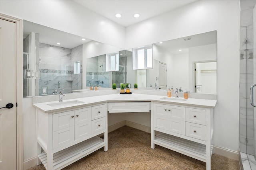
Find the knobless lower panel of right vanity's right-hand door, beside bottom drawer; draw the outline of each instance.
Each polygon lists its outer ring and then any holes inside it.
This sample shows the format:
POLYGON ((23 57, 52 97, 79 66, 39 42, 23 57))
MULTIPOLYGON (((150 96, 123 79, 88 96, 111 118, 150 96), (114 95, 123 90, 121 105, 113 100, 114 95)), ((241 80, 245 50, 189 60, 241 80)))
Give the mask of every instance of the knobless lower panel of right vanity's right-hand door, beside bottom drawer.
POLYGON ((185 121, 168 119, 168 131, 185 135, 185 121))

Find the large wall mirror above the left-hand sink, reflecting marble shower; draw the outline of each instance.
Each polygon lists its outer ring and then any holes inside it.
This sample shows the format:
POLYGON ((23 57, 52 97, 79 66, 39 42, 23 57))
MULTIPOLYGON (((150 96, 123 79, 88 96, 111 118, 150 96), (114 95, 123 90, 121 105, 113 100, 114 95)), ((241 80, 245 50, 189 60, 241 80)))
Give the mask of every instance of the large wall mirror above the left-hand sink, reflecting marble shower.
MULTIPOLYGON (((23 44, 24 97, 59 94, 63 89, 67 94, 85 88, 86 59, 122 50, 26 20, 23 44)), ((103 66, 106 69, 105 63, 103 66)))

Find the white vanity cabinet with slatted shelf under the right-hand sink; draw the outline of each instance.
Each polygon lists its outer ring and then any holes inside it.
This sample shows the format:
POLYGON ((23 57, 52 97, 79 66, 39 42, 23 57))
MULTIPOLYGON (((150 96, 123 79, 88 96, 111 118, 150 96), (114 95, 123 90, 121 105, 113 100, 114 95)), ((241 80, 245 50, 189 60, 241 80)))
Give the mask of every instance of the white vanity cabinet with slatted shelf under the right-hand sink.
POLYGON ((152 102, 151 147, 160 145, 206 162, 213 148, 213 108, 152 102))

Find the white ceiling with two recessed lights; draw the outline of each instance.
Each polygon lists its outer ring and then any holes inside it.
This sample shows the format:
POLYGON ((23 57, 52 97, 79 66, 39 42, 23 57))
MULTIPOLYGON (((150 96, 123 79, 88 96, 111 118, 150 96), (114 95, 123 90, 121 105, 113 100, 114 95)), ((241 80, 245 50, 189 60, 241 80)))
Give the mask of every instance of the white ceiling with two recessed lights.
POLYGON ((73 0, 123 27, 169 12, 197 0, 73 0), (122 14, 116 18, 115 14, 122 14), (139 18, 133 14, 139 13, 139 18))

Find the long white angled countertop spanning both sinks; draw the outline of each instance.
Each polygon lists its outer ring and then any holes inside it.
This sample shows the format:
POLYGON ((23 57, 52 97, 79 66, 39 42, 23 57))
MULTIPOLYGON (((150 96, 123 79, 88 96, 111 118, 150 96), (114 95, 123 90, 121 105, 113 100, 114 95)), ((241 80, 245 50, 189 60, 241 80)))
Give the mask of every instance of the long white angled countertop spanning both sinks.
POLYGON ((79 109, 80 107, 86 107, 92 104, 100 104, 104 102, 163 102, 165 104, 178 104, 178 105, 208 107, 208 108, 214 108, 217 102, 216 100, 195 99, 195 98, 188 98, 185 101, 182 100, 183 98, 179 98, 180 100, 176 100, 175 97, 171 97, 168 100, 161 100, 160 98, 167 98, 167 96, 136 94, 136 93, 108 94, 108 95, 102 95, 102 96, 92 96, 92 97, 64 100, 63 104, 65 104, 65 102, 70 102, 70 101, 82 102, 78 104, 67 104, 66 106, 56 105, 53 107, 48 105, 48 104, 55 104, 55 103, 58 104, 60 103, 59 101, 36 103, 36 104, 33 104, 33 106, 44 113, 51 113, 51 112, 57 112, 57 111, 64 111, 66 109, 79 109))

